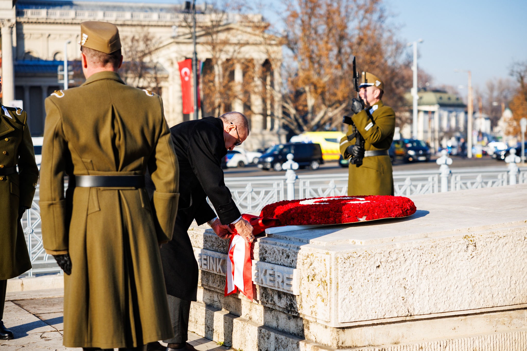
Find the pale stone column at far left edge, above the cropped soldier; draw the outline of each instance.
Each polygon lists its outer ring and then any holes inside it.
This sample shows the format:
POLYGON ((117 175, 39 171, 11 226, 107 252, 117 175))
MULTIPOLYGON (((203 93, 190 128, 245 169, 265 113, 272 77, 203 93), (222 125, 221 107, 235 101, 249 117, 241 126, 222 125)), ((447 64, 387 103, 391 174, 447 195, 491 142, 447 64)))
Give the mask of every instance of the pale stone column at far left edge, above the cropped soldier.
POLYGON ((15 22, 11 19, 0 19, 0 26, 2 27, 2 103, 9 105, 9 102, 15 99, 13 67, 13 27, 15 22))

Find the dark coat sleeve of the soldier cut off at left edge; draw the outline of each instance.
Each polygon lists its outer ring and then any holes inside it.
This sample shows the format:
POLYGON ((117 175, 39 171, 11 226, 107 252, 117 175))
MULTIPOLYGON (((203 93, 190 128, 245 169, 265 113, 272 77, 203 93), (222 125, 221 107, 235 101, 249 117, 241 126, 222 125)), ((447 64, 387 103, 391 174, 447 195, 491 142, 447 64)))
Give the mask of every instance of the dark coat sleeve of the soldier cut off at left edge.
POLYGON ((38 182, 38 167, 35 162, 35 149, 31 140, 30 128, 27 126, 27 115, 24 121, 22 142, 18 145, 17 164, 20 178, 20 205, 31 208, 38 182))

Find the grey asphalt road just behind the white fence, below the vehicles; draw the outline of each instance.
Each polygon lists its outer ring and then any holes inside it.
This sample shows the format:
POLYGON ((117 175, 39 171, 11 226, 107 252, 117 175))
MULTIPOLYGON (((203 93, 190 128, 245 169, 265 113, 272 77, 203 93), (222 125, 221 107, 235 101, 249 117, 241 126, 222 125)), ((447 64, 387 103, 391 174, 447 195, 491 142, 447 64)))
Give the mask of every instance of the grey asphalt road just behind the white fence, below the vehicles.
MULTIPOLYGON (((435 163, 433 158, 430 162, 413 162, 413 163, 402 163, 397 162, 393 165, 394 171, 414 171, 417 169, 439 169, 439 166, 435 163)), ((506 167, 506 163, 503 161, 496 161, 490 156, 484 156, 483 158, 461 158, 452 156, 451 168, 465 168, 465 167, 506 167)), ((254 165, 246 166, 243 168, 227 168, 225 172, 226 177, 254 177, 254 176, 277 176, 284 175, 286 171, 275 172, 275 171, 262 171, 254 165)), ((337 162, 327 162, 320 166, 317 171, 311 171, 310 169, 298 169, 297 174, 339 174, 347 173, 348 169, 340 167, 337 162)))

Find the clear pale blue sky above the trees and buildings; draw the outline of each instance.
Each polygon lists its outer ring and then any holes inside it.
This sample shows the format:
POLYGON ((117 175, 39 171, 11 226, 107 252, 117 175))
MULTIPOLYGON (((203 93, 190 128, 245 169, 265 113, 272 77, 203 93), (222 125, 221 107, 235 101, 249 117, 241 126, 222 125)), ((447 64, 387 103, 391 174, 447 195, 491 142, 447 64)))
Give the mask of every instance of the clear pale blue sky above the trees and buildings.
MULTIPOLYGON (((281 2, 262 3, 270 5, 264 15, 271 22, 277 21, 275 9, 281 2)), ((393 15, 391 21, 400 28, 399 38, 423 38, 418 65, 432 74, 437 85, 466 87, 466 74, 454 73, 460 68, 471 69, 474 86, 483 87, 488 79, 509 77, 513 61, 527 61, 527 0, 385 0, 385 4, 393 15)), ((460 92, 465 95, 466 88, 460 92)))

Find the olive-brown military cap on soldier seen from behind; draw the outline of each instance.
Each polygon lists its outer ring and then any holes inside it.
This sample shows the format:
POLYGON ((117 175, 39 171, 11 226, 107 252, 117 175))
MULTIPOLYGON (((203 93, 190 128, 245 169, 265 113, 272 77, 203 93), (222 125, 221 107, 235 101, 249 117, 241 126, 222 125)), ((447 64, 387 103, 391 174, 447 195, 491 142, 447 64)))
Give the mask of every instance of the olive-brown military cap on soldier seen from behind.
POLYGON ((81 46, 111 54, 121 48, 119 29, 108 22, 86 21, 81 23, 81 46))

